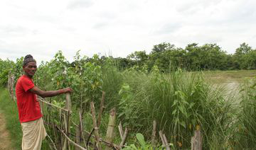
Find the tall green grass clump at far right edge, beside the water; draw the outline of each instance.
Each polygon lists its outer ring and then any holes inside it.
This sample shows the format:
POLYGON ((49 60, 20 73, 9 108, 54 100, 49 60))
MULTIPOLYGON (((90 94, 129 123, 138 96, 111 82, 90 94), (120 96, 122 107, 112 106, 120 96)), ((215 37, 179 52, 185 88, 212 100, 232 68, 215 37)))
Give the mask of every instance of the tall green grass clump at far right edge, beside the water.
POLYGON ((247 80, 241 87, 234 146, 237 149, 256 149, 256 80, 247 80))

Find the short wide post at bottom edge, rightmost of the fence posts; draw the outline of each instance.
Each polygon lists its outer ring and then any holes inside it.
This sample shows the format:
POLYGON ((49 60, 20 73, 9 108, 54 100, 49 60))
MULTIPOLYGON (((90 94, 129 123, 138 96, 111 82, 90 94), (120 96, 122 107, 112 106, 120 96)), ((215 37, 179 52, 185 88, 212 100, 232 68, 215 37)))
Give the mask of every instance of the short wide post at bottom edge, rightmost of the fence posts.
POLYGON ((203 149, 203 137, 200 129, 196 129, 195 135, 191 138, 191 150, 202 150, 203 149))

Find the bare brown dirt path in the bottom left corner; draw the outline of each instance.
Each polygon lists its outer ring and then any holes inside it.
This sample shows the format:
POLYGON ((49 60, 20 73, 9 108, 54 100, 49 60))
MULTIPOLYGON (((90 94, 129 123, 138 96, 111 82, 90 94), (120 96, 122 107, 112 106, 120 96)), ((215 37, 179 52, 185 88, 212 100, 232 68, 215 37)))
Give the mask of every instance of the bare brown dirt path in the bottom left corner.
POLYGON ((6 130, 4 115, 0 112, 0 150, 12 150, 9 132, 6 130))

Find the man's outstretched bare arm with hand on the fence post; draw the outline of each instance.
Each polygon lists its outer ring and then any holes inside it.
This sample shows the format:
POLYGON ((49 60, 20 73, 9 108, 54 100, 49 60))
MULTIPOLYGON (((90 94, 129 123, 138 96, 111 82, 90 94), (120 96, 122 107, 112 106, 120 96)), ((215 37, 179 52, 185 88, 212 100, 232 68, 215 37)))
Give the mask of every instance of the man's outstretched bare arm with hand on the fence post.
POLYGON ((58 96, 62 93, 68 93, 68 92, 72 92, 72 88, 63 88, 60 90, 56 90, 56 91, 43 91, 40 88, 34 86, 33 88, 29 89, 28 91, 31 91, 32 93, 35 93, 38 96, 41 96, 42 98, 46 98, 46 97, 52 97, 52 96, 58 96))

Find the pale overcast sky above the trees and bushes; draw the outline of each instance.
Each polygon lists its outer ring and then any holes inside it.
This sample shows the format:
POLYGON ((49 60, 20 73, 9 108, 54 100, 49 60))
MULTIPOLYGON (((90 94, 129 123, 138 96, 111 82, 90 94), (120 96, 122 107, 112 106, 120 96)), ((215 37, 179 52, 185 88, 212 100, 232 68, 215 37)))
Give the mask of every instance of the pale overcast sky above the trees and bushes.
POLYGON ((255 0, 1 0, 0 58, 127 57, 170 42, 256 48, 255 0))

